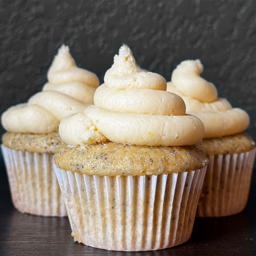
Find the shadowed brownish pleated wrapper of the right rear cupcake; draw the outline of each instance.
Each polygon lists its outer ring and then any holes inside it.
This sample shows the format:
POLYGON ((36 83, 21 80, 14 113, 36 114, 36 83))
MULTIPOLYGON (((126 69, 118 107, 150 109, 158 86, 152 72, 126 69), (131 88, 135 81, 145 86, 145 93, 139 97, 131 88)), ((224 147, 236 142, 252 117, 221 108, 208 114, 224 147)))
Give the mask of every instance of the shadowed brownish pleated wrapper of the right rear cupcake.
POLYGON ((245 153, 209 155, 196 217, 241 212, 247 202, 256 149, 245 153))

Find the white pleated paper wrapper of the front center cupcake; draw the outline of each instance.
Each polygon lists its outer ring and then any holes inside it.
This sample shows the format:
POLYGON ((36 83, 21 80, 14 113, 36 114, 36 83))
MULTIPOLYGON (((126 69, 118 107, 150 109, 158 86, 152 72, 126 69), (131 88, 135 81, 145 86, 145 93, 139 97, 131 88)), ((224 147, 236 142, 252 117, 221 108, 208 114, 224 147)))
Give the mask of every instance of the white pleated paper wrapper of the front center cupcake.
POLYGON ((206 168, 145 176, 55 171, 75 241, 108 250, 145 251, 189 239, 206 168))

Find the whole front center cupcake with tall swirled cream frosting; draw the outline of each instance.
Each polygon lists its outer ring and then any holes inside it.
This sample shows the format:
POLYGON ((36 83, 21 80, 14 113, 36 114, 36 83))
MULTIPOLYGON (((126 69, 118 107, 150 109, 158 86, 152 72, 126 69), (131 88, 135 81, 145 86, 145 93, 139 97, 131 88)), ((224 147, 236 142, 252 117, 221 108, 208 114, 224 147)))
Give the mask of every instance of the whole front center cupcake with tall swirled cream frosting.
POLYGON ((123 45, 94 96, 64 118, 55 154, 74 240, 119 251, 187 241, 207 158, 203 123, 165 79, 141 71, 123 45))

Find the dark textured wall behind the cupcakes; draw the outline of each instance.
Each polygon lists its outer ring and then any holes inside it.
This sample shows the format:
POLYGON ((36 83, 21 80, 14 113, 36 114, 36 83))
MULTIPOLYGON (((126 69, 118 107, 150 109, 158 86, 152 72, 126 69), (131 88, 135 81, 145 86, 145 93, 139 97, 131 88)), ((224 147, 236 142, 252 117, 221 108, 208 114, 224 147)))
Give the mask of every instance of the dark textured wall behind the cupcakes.
POLYGON ((219 96, 250 114, 256 140, 256 1, 0 1, 0 113, 41 90, 62 43, 100 82, 122 43, 168 81, 199 58, 219 96))

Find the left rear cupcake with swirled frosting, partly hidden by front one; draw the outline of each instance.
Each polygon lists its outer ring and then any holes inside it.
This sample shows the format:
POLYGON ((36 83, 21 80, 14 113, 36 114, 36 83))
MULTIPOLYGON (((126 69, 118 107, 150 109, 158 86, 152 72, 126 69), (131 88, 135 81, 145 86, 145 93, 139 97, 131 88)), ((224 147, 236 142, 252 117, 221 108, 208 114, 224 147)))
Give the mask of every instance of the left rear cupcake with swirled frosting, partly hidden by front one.
POLYGON ((13 106, 1 115, 7 131, 1 150, 14 207, 30 214, 66 216, 52 168, 54 153, 64 144, 58 127, 63 117, 93 103, 99 82, 94 73, 76 66, 64 45, 49 68, 48 81, 27 103, 13 106))

